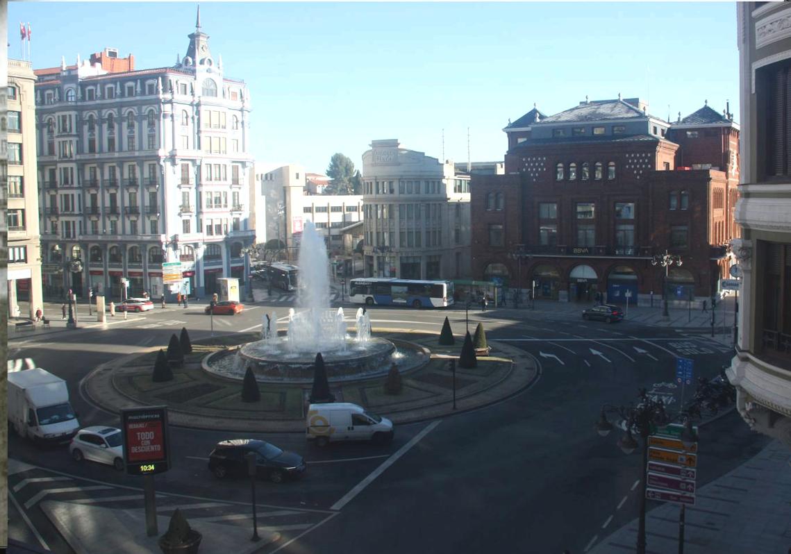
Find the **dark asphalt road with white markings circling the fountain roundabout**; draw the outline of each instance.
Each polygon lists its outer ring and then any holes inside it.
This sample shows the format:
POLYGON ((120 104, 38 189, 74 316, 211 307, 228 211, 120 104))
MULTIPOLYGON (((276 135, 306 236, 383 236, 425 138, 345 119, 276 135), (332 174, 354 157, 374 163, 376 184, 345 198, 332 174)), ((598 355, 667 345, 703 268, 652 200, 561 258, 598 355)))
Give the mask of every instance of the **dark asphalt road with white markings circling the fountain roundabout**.
MULTIPOLYGON (((288 300, 288 299, 284 299, 288 300)), ((193 339, 210 334, 205 304, 186 310, 172 305, 143 315, 118 315, 107 330, 83 328, 26 336, 9 344, 9 359, 31 358, 70 383, 82 424, 112 424, 112 414, 95 409, 74 391, 93 367, 115 356, 152 345, 167 345, 187 326, 193 339)), ((278 316, 288 303, 278 303, 278 316)), ((348 318, 354 309, 346 312, 348 318)), ((214 332, 235 333, 258 326, 273 306, 256 304, 237 316, 214 316, 214 332)), ((464 310, 415 311, 373 307, 375 328, 439 331, 447 315, 453 330, 464 330, 464 310)), ((729 349, 676 330, 633 322, 608 325, 577 319, 539 317, 528 311, 471 311, 470 330, 483 321, 487 337, 509 341, 534 356, 539 379, 497 405, 435 422, 399 426, 386 447, 345 444, 320 450, 304 435, 265 435, 305 456, 305 479, 259 485, 259 503, 280 507, 273 526, 284 538, 270 548, 280 552, 584 552, 611 530, 637 516, 638 454, 615 446, 618 433, 601 438, 592 428, 603 404, 637 399, 640 387, 679 405, 676 356, 694 360, 695 375, 710 377, 730 357, 729 349), (395 454, 395 455, 394 455, 395 454), (312 462, 312 463, 311 463, 312 462), (382 464, 388 464, 382 469, 382 464), (380 472, 367 480, 373 472, 380 472), (365 485, 365 486, 362 486, 365 485), (339 514, 336 514, 339 512, 339 514), (298 518, 298 523, 282 521, 298 518), (291 539, 298 537, 296 541, 291 539), (286 545, 283 548, 283 545, 286 545)), ((88 322, 81 322, 89 325, 88 322)), ((686 390, 687 398, 692 390, 686 390)), ((755 454, 766 438, 752 434, 731 413, 701 429, 698 484, 706 484, 755 454)), ((172 428, 174 462, 157 476, 157 490, 213 499, 244 512, 246 481, 216 481, 206 456, 220 439, 241 435, 172 428), (238 503, 238 504, 233 504, 238 503)), ((40 468, 43 476, 93 479, 113 487, 140 488, 135 477, 91 462, 78 464, 66 449, 42 450, 11 436, 9 457, 40 468), (59 473, 55 473, 59 472, 59 473)), ((85 481, 85 486, 91 481, 85 481)), ((12 485, 12 481, 9 481, 12 485)), ((35 541, 17 504, 55 552, 70 552, 44 514, 36 492, 51 483, 25 486, 9 503, 10 536, 35 541), (30 503, 25 507, 25 503, 30 503)), ((102 485, 98 485, 102 486, 102 485)), ((66 493, 109 494, 104 489, 66 493)), ((200 502, 194 500, 194 502, 200 502)), ((203 502, 205 503, 205 502, 203 502)), ((108 505, 112 506, 112 503, 108 505)), ((652 504, 649 503, 649 507, 652 504)), ((205 508, 211 513, 212 508, 205 508)))

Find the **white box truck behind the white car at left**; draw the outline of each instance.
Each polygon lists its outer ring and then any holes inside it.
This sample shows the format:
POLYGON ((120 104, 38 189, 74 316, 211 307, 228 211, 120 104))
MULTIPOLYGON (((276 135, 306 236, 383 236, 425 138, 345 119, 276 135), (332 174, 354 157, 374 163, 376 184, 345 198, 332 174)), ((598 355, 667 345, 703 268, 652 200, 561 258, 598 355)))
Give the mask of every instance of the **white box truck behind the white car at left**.
POLYGON ((68 442, 80 428, 66 381, 35 367, 8 374, 8 421, 23 437, 68 442))

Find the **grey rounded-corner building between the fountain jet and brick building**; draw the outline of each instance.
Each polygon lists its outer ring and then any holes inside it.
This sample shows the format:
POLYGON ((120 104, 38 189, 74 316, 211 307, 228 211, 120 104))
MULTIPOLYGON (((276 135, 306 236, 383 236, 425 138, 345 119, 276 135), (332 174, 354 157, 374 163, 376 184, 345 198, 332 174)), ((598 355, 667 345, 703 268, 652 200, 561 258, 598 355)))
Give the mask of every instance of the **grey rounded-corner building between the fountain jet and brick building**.
POLYGON ((470 175, 395 139, 362 155, 366 277, 469 274, 470 175))

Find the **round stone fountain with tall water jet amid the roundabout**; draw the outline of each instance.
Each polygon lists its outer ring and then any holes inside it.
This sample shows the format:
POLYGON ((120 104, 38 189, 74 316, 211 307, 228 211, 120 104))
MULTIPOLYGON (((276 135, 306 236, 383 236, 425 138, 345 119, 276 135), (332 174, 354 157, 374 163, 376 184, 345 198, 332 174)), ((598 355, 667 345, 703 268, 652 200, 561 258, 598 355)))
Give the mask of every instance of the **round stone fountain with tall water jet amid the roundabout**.
POLYGON ((422 361, 422 352, 408 356, 396 352, 391 341, 371 337, 371 320, 365 308, 355 315, 354 336, 347 334, 343 307, 330 307, 327 249, 311 222, 302 232, 298 264, 297 310, 290 308, 285 318, 286 334, 278 334, 274 311, 264 314, 260 340, 241 345, 232 355, 210 356, 204 364, 208 371, 242 379, 247 367, 252 367, 259 381, 306 382, 312 379, 316 352, 321 352, 333 381, 384 374, 392 363, 422 361))

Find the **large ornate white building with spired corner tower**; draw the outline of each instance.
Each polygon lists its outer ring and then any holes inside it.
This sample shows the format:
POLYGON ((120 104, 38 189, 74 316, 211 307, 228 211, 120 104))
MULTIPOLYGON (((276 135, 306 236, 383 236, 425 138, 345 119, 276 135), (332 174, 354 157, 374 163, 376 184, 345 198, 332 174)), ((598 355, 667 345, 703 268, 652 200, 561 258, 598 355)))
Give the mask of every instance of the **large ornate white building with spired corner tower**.
POLYGON ((200 12, 172 67, 105 49, 36 70, 44 291, 204 295, 246 281, 250 96, 223 74, 200 12), (165 288, 163 262, 182 281, 165 288))

